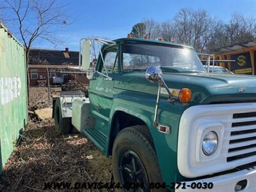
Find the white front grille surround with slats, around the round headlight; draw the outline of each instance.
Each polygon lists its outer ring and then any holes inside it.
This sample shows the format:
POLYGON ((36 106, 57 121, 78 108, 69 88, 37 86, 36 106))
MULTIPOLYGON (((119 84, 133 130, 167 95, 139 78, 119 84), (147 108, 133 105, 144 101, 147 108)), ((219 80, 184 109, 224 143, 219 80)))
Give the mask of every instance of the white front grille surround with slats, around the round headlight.
POLYGON ((200 177, 256 163, 256 102, 192 106, 179 126, 178 167, 185 177, 200 177), (202 152, 202 137, 215 131, 219 145, 202 152))

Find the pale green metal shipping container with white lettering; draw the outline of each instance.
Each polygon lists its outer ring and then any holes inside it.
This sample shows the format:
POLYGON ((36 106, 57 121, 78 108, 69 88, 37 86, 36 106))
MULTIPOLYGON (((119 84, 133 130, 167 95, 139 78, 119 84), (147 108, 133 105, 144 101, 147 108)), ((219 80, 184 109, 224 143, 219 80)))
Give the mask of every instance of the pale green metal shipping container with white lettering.
POLYGON ((27 124, 24 47, 0 23, 0 173, 27 124))

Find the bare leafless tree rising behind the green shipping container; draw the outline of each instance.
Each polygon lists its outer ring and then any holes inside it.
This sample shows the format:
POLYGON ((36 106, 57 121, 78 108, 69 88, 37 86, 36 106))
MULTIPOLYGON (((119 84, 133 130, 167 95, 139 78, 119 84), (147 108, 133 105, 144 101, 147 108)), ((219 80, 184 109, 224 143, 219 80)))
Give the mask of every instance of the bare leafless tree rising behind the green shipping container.
MULTIPOLYGON (((13 18, 8 19, 19 31, 26 49, 27 70, 29 63, 29 50, 36 40, 60 43, 56 38, 56 31, 66 25, 64 6, 57 5, 56 0, 4 0, 6 8, 12 10, 13 18)), ((29 74, 28 74, 29 85, 29 74)))

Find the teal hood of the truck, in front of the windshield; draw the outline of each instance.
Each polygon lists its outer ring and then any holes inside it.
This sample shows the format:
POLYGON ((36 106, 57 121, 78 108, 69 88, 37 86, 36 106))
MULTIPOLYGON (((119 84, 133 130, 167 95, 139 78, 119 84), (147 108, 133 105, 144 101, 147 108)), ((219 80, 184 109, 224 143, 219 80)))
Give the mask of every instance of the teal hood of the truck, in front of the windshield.
MULTIPOLYGON (((205 72, 163 72, 168 88, 189 88, 191 102, 222 103, 256 100, 256 77, 205 72)), ((115 79, 115 88, 134 92, 157 94, 157 83, 145 79, 145 72, 127 72, 115 79)))

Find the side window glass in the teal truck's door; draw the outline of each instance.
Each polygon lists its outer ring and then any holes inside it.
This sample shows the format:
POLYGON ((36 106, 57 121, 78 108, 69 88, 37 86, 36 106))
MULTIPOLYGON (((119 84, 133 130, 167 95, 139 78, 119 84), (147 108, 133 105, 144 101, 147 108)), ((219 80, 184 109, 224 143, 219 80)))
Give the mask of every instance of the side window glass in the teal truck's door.
MULTIPOLYGON (((106 53, 104 63, 108 73, 112 73, 117 70, 117 51, 109 51, 106 53)), ((105 68, 102 66, 102 73, 105 72, 105 68)))

